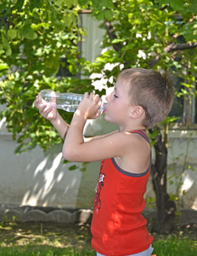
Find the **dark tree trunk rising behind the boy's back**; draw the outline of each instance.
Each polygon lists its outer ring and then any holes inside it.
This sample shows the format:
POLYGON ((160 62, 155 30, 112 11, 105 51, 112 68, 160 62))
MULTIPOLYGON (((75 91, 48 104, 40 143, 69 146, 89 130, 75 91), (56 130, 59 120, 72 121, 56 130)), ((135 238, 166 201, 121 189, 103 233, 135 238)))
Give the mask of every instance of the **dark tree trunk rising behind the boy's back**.
MULTIPOLYGON (((158 128, 155 128, 158 130, 158 128)), ((153 133, 153 130, 149 130, 153 133)), ((170 200, 166 192, 167 147, 160 130, 155 137, 155 164, 152 165, 151 175, 156 194, 157 217, 152 231, 166 233, 174 229, 176 222, 176 204, 170 200)))

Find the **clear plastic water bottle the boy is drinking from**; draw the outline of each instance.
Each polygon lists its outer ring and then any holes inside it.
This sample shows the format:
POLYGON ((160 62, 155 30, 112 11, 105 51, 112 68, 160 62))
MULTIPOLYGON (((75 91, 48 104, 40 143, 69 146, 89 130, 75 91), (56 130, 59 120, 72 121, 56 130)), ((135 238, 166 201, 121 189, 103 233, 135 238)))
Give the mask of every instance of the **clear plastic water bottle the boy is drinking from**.
MULTIPOLYGON (((78 108, 79 103, 82 102, 83 99, 82 94, 71 92, 59 93, 54 92, 53 90, 41 90, 40 95, 40 102, 44 100, 49 106, 52 106, 53 108, 60 108, 67 112, 75 112, 76 108, 78 108), (55 98, 54 102, 53 97, 55 98)), ((106 108, 106 104, 107 103, 103 102, 99 110, 103 112, 106 108)))

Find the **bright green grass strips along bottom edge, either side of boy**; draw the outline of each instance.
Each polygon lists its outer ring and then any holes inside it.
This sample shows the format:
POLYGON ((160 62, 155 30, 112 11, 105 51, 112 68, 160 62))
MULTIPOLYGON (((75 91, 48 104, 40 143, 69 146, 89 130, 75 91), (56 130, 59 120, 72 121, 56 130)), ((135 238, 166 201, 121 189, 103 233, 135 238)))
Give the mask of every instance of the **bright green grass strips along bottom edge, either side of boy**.
MULTIPOLYGON (((197 241, 176 236, 162 237, 153 243, 153 254, 157 256, 196 256, 197 241)), ((77 248, 60 248, 52 246, 18 246, 0 248, 1 256, 95 256, 93 251, 78 250, 77 248)))

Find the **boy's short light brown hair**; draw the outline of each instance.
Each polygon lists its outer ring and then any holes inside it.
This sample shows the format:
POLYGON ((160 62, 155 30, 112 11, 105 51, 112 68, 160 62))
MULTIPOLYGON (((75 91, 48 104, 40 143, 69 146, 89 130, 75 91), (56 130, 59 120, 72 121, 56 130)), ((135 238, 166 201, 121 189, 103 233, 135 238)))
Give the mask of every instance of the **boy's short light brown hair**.
POLYGON ((118 79, 129 85, 132 104, 145 111, 143 125, 149 129, 166 119, 174 100, 173 81, 168 73, 161 74, 152 69, 128 68, 118 79))

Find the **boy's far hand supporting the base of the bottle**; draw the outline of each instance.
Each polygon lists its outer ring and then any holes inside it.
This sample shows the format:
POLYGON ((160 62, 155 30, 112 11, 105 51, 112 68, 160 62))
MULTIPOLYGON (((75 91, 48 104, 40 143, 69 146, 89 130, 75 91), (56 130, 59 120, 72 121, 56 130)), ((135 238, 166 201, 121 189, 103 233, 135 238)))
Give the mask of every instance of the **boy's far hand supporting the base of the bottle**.
MULTIPOLYGON (((55 96, 51 96, 51 102, 55 106, 55 96)), ((38 108, 39 113, 45 119, 49 121, 54 121, 57 118, 58 111, 56 108, 50 107, 47 102, 42 99, 42 96, 38 94, 36 101, 34 102, 36 108, 38 108)))

